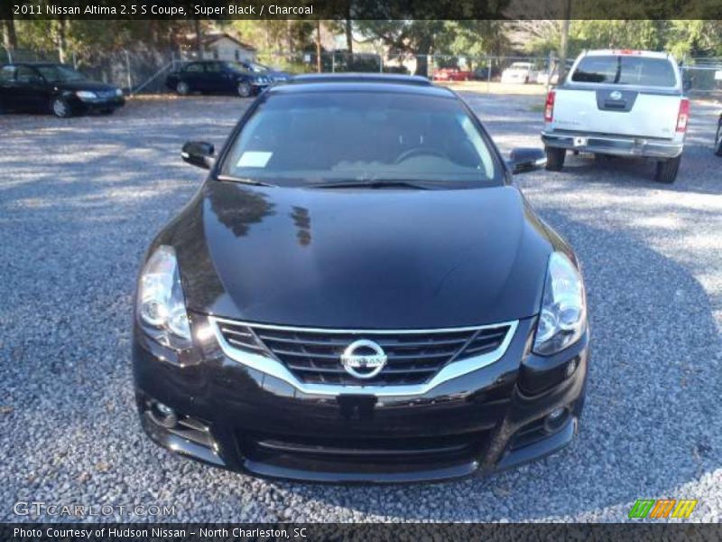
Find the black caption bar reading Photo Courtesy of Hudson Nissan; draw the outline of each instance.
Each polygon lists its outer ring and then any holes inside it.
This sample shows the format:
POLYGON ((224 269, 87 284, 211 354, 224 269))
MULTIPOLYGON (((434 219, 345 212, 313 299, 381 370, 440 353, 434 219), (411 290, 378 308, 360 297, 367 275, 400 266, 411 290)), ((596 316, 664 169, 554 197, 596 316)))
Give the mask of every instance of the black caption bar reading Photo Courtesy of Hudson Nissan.
POLYGON ((4 542, 216 540, 719 540, 722 525, 700 523, 3 523, 4 542))

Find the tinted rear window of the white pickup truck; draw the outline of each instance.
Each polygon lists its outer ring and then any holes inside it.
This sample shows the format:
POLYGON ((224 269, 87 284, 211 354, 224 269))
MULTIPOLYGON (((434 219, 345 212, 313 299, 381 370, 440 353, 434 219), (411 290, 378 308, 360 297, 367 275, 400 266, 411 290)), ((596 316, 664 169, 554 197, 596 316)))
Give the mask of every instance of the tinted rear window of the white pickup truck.
POLYGON ((578 83, 674 87, 677 76, 671 61, 634 56, 587 56, 571 74, 578 83))

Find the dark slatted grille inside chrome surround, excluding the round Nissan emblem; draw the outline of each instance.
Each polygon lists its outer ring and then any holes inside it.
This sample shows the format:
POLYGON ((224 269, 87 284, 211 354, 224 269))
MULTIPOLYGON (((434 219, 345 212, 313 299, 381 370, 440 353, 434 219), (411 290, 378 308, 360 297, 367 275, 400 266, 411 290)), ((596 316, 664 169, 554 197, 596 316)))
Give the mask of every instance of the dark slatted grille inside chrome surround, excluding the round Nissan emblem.
POLYGON ((271 355, 307 384, 404 386, 422 384, 448 363, 499 349, 508 323, 478 328, 429 331, 337 331, 218 321, 218 331, 233 348, 271 355), (347 373, 340 356, 359 339, 375 341, 387 362, 375 377, 347 373))

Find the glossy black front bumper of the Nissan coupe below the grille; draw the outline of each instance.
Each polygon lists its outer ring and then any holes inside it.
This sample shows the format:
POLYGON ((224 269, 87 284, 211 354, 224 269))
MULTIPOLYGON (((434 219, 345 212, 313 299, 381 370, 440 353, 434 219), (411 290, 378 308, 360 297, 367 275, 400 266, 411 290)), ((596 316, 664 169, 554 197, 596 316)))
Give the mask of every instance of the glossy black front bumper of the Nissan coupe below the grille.
MULTIPOLYGON (((194 329, 206 324, 191 318, 194 329)), ((495 363, 398 397, 302 393, 227 358, 212 335, 177 356, 136 329, 137 406, 157 444, 260 476, 406 482, 494 472, 558 451, 579 425, 588 332, 545 358, 528 351, 533 324, 519 322, 495 363), (157 402, 179 422, 160 419, 157 402), (551 425, 547 416, 560 407, 564 415, 551 425)))

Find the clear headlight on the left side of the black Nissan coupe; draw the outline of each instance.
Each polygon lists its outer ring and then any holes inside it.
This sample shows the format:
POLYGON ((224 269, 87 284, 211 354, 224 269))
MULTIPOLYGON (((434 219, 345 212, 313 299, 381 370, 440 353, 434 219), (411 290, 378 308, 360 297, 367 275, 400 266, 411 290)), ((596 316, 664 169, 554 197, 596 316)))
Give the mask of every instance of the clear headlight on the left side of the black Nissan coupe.
POLYGON ((172 247, 157 248, 143 266, 137 304, 143 330, 153 339, 175 349, 191 346, 185 297, 172 247))

